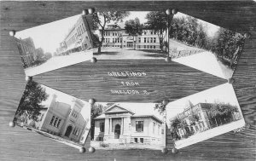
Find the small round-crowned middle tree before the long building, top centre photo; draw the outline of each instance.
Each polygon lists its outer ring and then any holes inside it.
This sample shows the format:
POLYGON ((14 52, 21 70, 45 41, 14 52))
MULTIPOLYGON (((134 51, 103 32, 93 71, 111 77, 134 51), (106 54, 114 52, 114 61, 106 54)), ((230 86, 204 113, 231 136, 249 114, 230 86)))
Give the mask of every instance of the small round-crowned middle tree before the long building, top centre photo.
POLYGON ((137 36, 143 33, 143 25, 140 23, 140 20, 135 18, 135 20, 125 21, 125 32, 133 37, 133 46, 135 49, 134 37, 136 37, 137 40, 137 36))

